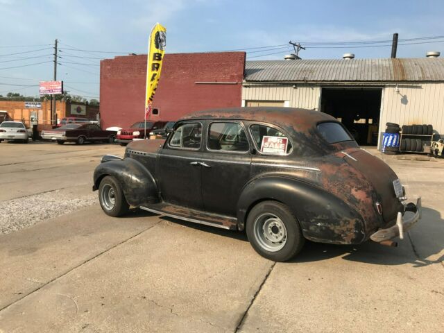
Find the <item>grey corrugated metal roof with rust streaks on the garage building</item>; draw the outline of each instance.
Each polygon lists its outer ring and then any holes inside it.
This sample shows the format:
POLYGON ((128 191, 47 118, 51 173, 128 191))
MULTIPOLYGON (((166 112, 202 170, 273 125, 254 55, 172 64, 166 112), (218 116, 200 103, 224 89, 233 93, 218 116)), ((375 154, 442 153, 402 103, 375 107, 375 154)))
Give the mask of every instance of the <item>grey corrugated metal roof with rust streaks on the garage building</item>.
POLYGON ((246 81, 444 81, 444 58, 262 60, 246 81))

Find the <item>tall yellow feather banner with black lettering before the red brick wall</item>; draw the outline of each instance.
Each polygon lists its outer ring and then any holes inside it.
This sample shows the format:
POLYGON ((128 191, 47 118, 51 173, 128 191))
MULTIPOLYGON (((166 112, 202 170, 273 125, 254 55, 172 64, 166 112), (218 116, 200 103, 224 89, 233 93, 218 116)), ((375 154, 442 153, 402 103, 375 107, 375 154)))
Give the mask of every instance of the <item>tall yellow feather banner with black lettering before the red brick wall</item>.
POLYGON ((159 83, 160 71, 162 70, 162 60, 167 46, 167 29, 156 23, 151 29, 148 41, 148 60, 146 65, 146 98, 145 98, 145 119, 151 114, 151 108, 155 89, 159 83))

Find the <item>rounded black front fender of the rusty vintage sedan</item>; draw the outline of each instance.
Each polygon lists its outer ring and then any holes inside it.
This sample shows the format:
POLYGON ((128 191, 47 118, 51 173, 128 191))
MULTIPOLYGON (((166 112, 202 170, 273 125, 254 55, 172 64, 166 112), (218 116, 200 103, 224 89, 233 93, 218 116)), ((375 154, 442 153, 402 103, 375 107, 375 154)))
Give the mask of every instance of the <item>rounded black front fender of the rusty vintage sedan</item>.
POLYGON ((140 162, 130 157, 99 164, 94 170, 93 190, 99 189, 105 176, 113 176, 119 181, 130 205, 139 207, 159 201, 159 191, 153 175, 140 162))

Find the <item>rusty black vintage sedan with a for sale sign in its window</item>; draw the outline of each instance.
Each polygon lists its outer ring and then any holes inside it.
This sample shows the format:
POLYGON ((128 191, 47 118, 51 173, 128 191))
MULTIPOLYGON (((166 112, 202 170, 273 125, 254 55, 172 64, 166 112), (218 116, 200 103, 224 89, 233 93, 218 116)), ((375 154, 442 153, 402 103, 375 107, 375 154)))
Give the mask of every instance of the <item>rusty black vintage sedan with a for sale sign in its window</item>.
POLYGON ((93 190, 105 214, 128 207, 246 230, 260 255, 282 262, 305 239, 394 245, 420 219, 398 176, 323 112, 234 108, 189 114, 166 140, 104 156, 93 190))

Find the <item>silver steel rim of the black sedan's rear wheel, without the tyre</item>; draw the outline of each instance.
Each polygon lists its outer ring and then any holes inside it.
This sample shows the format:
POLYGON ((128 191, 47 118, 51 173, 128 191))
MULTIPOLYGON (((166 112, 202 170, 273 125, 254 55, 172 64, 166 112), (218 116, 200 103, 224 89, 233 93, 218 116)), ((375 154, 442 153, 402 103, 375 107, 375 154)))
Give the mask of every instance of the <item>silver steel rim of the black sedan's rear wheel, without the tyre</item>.
POLYGON ((269 252, 277 252, 287 243, 287 228, 274 214, 266 213, 258 216, 253 230, 259 246, 269 252))

